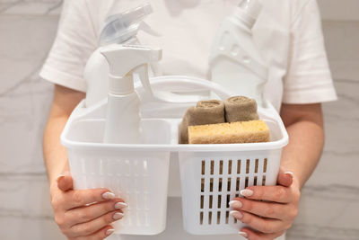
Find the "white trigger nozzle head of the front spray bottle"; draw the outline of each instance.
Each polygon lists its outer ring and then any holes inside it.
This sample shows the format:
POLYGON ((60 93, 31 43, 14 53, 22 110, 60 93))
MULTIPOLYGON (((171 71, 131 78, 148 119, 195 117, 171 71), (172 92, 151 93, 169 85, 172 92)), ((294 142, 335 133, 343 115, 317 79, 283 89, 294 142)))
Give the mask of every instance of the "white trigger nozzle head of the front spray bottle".
POLYGON ((148 78, 148 64, 161 60, 162 49, 111 44, 102 47, 100 51, 109 62, 110 93, 133 93, 133 75, 137 74, 145 90, 152 94, 148 78))

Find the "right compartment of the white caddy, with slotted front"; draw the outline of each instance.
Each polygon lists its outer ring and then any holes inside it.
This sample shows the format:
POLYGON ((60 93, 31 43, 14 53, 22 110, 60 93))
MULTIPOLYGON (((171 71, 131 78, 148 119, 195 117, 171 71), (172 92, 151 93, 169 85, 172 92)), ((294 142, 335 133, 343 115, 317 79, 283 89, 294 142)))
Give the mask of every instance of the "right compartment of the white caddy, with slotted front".
POLYGON ((183 224, 194 235, 236 234, 244 225, 230 215, 230 200, 253 185, 275 185, 283 129, 266 120, 272 142, 212 146, 180 152, 183 224))

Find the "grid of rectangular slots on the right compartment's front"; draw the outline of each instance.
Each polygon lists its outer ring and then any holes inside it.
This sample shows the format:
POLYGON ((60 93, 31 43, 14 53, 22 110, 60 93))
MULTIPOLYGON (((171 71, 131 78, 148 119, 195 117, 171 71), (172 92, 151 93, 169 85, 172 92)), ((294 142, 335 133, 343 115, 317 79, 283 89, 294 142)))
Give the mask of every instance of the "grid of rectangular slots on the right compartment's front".
POLYGON ((198 225, 240 224, 229 215, 229 202, 240 197, 240 191, 266 182, 267 157, 210 158, 200 164, 200 199, 198 225))

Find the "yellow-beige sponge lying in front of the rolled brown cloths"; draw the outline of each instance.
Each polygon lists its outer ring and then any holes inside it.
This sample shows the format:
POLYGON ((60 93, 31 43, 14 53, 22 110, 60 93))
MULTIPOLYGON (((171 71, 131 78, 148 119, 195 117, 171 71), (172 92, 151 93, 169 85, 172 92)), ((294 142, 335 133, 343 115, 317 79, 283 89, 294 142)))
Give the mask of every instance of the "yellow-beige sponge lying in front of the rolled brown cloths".
POLYGON ((267 124, 263 120, 225 122, 188 127, 189 144, 231 144, 270 141, 267 124))

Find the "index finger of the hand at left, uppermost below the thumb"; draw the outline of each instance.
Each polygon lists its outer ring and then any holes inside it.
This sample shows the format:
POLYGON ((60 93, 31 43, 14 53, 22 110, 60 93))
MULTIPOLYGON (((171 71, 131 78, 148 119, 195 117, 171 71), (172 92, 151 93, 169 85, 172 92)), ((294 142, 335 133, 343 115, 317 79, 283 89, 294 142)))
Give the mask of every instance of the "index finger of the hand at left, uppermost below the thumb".
POLYGON ((83 189, 66 191, 62 199, 63 209, 74 209, 84 205, 101 202, 105 200, 114 200, 115 194, 108 189, 83 189))

